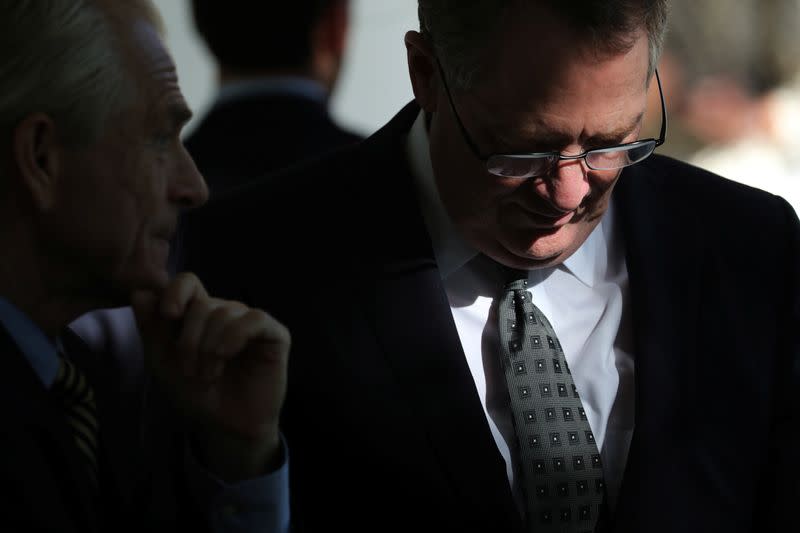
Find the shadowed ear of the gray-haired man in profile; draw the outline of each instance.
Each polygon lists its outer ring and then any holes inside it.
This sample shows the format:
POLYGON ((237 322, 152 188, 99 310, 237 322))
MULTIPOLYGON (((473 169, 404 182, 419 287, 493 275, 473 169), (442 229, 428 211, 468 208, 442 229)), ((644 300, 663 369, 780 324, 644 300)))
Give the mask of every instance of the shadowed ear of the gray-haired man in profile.
POLYGON ((30 193, 37 209, 49 209, 61 168, 61 145, 53 119, 44 113, 28 115, 14 129, 12 146, 20 186, 30 193))

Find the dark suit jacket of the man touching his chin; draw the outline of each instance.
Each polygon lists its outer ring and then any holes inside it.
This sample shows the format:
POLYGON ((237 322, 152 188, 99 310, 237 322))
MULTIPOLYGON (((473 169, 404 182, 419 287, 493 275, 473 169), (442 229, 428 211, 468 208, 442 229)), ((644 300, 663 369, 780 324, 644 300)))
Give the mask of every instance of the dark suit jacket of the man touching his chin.
POLYGON ((182 479, 180 426, 145 387, 141 362, 99 360, 69 332, 63 342, 95 391, 101 490, 90 485, 59 405, 0 326, 0 530, 203 531, 182 479))

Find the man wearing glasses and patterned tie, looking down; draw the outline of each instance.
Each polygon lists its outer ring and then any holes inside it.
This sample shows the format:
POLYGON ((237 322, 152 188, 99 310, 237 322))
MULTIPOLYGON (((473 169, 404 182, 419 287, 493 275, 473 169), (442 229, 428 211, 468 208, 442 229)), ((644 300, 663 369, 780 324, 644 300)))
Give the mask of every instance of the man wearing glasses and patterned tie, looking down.
POLYGON ((797 527, 800 227, 642 138, 667 7, 419 0, 413 103, 190 215, 293 332, 298 530, 797 527))

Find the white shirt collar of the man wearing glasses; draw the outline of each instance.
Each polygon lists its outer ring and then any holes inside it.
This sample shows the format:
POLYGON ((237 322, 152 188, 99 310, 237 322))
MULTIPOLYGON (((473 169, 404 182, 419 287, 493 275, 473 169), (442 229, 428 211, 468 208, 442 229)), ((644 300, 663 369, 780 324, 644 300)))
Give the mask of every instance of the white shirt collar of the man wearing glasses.
MULTIPOLYGON (((422 214, 431 235, 436 263, 444 279, 465 265, 478 251, 461 237, 442 204, 431 163, 424 111, 420 111, 411 127, 406 152, 417 185, 422 214)), ((605 272, 608 263, 609 242, 614 235, 612 210, 613 201, 609 201, 608 210, 586 242, 563 264, 552 268, 568 270, 581 283, 593 287, 605 272)))

